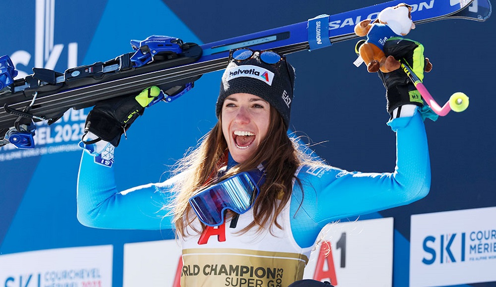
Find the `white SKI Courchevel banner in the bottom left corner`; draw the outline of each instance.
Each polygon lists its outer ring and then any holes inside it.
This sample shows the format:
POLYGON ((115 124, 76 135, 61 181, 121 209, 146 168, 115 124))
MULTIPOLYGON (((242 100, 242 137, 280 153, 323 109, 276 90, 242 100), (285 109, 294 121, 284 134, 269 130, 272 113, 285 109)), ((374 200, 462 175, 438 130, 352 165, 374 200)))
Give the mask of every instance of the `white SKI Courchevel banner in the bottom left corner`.
POLYGON ((113 246, 72 247, 0 256, 5 287, 112 286, 113 246))

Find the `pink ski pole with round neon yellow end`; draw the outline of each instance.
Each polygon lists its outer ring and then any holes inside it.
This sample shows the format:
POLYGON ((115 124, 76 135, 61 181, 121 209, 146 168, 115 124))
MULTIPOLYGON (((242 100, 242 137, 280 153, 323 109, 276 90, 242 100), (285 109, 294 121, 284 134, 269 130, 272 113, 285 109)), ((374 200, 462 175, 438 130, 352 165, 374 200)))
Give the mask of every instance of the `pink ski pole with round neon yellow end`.
POLYGON ((415 88, 417 88, 420 95, 424 98, 424 100, 436 114, 445 116, 450 110, 455 112, 462 112, 467 109, 469 104, 468 96, 462 92, 454 93, 449 97, 449 100, 442 107, 439 106, 439 104, 434 100, 433 96, 431 96, 429 91, 427 91, 426 86, 424 86, 419 77, 413 72, 412 68, 410 68, 408 65, 405 65, 402 61, 400 62, 403 72, 405 72, 410 80, 412 80, 415 88))

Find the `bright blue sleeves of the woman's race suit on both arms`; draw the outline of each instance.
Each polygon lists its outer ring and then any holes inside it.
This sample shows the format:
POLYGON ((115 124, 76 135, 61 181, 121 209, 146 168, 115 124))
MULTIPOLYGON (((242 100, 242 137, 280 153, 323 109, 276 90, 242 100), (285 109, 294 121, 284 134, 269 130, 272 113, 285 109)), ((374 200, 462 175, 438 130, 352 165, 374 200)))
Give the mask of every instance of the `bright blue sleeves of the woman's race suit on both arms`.
MULTIPOLYGON (((291 230, 301 247, 311 246, 320 230, 341 218, 405 205, 426 196, 431 170, 420 112, 388 122, 396 133, 396 167, 390 173, 349 172, 332 166, 303 166, 295 184, 291 230), (298 210, 298 212, 297 212, 298 210)), ((181 176, 181 175, 178 175, 181 176)), ((113 168, 95 164, 83 152, 77 185, 77 216, 86 226, 107 229, 173 229, 162 207, 172 199, 174 178, 118 191, 113 168)))

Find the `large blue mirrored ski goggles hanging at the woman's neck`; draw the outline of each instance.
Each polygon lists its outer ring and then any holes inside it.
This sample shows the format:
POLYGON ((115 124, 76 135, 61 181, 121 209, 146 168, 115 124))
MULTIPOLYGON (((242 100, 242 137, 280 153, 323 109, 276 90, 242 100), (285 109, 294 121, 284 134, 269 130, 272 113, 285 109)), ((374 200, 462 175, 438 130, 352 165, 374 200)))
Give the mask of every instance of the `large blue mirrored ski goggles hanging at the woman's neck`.
POLYGON ((196 192, 189 204, 198 219, 207 226, 224 223, 224 211, 230 209, 238 214, 247 212, 255 201, 259 189, 248 172, 242 172, 220 183, 196 192))

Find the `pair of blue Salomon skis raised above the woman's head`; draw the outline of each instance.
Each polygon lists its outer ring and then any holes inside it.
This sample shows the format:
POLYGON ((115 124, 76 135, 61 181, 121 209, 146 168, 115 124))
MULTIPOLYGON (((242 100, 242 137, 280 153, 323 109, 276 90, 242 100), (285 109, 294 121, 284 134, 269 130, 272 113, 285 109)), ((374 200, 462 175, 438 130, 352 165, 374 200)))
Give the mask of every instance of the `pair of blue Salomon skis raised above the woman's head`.
MULTIPOLYGON (((175 91, 190 88, 202 74, 224 69, 231 49, 249 47, 288 54, 357 38, 353 31, 356 23, 374 19, 382 9, 401 2, 393 0, 331 16, 320 15, 306 22, 201 46, 171 37, 158 37, 170 45, 162 47, 153 46, 158 42, 132 41, 134 52, 107 62, 67 69, 64 73, 33 68, 32 75, 15 81, 15 71, 9 66, 8 57, 3 56, 0 145, 13 143, 32 148, 32 121, 48 120, 51 124, 69 108, 85 108, 104 99, 138 94, 150 86, 170 91, 164 100, 172 101, 182 95, 175 91)), ((412 0, 408 4, 413 6, 412 18, 417 25, 443 19, 484 21, 491 15, 489 0, 412 0)))

